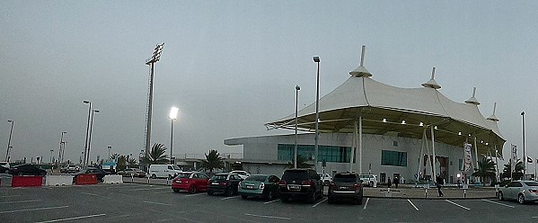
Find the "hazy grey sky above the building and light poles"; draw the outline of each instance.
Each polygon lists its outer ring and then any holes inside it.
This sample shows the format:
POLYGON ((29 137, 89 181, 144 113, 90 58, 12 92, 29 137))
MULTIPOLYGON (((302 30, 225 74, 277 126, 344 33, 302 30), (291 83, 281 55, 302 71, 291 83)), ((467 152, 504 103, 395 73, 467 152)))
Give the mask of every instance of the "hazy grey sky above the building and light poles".
MULTIPOLYGON (((437 67, 440 91, 463 103, 477 87, 485 117, 498 103, 509 145, 537 157, 538 2, 510 1, 2 1, 0 159, 14 120, 12 160, 50 159, 62 131, 66 159, 84 149, 89 100, 91 157, 137 156, 145 147, 149 69, 156 43, 153 143, 174 154, 243 152, 225 138, 293 133, 263 124, 315 100, 358 66, 387 85, 420 87, 437 67)), ((522 155, 520 155, 522 156, 522 155)))

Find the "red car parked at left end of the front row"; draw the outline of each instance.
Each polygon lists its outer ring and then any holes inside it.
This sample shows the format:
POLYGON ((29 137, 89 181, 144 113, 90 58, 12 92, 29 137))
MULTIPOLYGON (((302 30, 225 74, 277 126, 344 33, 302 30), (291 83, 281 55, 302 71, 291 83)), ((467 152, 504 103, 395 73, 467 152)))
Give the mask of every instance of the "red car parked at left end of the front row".
POLYGON ((201 192, 207 190, 207 181, 209 177, 199 172, 182 172, 172 181, 173 192, 189 191, 189 193, 201 192))

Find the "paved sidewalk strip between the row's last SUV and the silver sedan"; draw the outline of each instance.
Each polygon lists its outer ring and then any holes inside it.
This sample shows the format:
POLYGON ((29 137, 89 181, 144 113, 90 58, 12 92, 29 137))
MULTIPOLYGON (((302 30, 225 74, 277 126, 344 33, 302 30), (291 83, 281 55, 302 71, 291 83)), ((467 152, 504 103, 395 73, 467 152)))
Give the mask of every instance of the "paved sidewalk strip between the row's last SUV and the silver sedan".
MULTIPOLYGON (((413 185, 414 186, 414 185, 413 185)), ((431 187, 428 190, 415 187, 399 187, 398 189, 383 187, 365 187, 364 196, 371 198, 400 198, 400 199, 491 199, 496 198, 495 188, 482 187, 470 188, 463 190, 457 187, 444 187, 441 191, 445 194, 443 197, 437 197, 437 187, 431 187)))

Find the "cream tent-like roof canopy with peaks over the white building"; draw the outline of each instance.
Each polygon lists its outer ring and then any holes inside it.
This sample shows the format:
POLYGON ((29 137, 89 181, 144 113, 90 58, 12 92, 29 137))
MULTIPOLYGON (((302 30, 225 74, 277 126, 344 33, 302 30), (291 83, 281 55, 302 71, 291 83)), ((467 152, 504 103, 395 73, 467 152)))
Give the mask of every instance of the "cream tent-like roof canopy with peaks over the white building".
MULTIPOLYGON (((464 142, 474 144, 476 137, 480 154, 488 154, 489 149, 494 154, 497 147, 502 156, 506 139, 498 130, 498 119, 484 118, 474 95, 471 103, 456 103, 437 90, 440 85, 433 75, 419 88, 385 85, 370 76, 351 74, 320 99, 321 132, 353 132, 355 120, 362 116, 364 134, 422 138, 423 129, 434 126, 437 142, 463 147, 464 142)), ((297 117, 298 129, 315 131, 315 102, 297 117)), ((265 125, 268 129, 295 129, 295 113, 265 125)), ((431 138, 429 129, 427 134, 431 138)))

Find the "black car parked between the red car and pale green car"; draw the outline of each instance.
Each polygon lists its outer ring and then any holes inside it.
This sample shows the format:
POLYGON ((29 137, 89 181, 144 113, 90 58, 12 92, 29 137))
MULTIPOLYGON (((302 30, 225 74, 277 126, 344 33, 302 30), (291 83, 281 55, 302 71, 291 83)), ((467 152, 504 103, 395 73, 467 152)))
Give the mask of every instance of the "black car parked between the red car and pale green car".
POLYGON ((226 196, 232 196, 237 193, 237 187, 241 181, 243 178, 239 174, 215 174, 207 183, 207 194, 223 192, 226 196))

